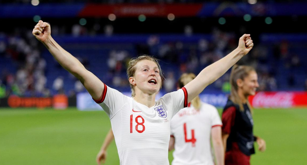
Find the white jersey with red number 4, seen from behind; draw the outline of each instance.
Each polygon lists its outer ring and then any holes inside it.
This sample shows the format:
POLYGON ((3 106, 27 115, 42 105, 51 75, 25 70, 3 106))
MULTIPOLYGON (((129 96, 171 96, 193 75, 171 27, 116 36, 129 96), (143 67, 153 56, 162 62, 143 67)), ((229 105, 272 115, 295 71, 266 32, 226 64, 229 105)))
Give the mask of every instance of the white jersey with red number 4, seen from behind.
POLYGON ((211 151, 211 128, 222 126, 217 109, 201 103, 200 110, 181 109, 171 121, 175 138, 172 165, 214 165, 211 151))

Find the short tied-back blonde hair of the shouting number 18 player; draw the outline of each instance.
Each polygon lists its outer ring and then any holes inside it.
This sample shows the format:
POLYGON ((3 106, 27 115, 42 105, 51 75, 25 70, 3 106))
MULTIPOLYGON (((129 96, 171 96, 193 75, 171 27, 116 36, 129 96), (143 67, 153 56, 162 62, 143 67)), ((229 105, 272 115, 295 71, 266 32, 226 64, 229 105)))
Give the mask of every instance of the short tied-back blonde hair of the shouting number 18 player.
MULTIPOLYGON (((150 61, 155 62, 158 66, 159 75, 161 76, 161 80, 164 78, 163 75, 162 75, 161 67, 159 65, 159 60, 155 57, 144 54, 144 55, 141 55, 141 56, 138 56, 138 57, 131 58, 131 60, 129 61, 128 68, 127 68, 128 80, 129 80, 130 77, 134 76, 134 73, 135 73, 135 70, 136 70, 135 66, 141 60, 150 60, 150 61)), ((161 86, 162 86, 162 83, 161 83, 161 86)), ((161 88, 161 86, 160 86, 160 88, 161 88)), ((131 95, 133 97, 135 97, 134 86, 131 83, 130 83, 130 88, 131 88, 131 95)))

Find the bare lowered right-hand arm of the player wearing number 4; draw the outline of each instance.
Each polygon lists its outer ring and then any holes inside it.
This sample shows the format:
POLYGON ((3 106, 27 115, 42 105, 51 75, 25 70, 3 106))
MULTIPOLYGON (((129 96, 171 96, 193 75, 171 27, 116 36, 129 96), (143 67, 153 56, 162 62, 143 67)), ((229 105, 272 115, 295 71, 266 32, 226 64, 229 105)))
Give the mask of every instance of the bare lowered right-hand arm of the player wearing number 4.
POLYGON ((222 141, 222 128, 221 127, 212 127, 211 129, 211 139, 214 147, 216 165, 224 165, 224 147, 222 141))

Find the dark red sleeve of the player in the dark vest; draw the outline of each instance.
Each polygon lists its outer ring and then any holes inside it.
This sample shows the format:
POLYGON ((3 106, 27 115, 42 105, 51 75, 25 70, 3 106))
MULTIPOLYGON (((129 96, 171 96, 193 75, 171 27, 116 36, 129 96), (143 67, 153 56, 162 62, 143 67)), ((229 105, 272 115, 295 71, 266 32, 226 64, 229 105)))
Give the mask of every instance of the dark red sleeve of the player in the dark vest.
POLYGON ((222 132, 226 134, 230 134, 231 127, 235 125, 235 106, 231 106, 227 108, 222 114, 222 132))

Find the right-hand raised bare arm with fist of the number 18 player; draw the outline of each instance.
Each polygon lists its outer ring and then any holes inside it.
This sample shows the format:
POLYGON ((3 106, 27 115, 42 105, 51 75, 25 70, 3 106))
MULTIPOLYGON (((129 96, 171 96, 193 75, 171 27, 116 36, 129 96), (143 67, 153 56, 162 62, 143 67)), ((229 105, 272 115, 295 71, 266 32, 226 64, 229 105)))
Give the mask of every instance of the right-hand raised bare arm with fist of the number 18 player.
POLYGON ((204 68, 200 73, 185 85, 188 92, 188 102, 202 92, 206 86, 220 78, 231 66, 245 56, 254 46, 249 34, 239 39, 239 46, 227 56, 204 68))

